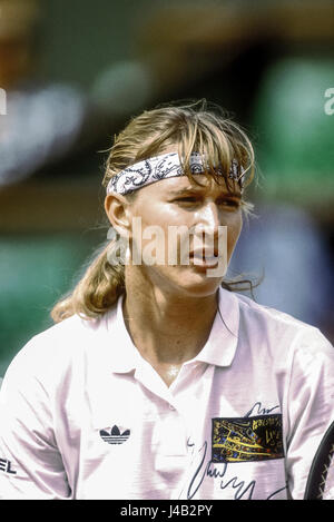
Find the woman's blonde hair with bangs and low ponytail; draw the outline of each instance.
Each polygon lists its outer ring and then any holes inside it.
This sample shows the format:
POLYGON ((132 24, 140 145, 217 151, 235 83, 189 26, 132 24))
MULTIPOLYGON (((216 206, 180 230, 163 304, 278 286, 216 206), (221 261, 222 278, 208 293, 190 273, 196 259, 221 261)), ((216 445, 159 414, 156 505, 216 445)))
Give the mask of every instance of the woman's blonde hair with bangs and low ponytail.
MULTIPOLYGON (((189 158, 193 151, 205 156, 208 165, 207 175, 214 176, 217 183, 215 166, 224 173, 227 188, 232 180, 228 173, 233 159, 245 169, 245 185, 254 177, 254 151, 252 144, 230 117, 218 106, 208 106, 206 100, 188 105, 159 106, 144 111, 131 119, 127 127, 115 137, 106 162, 102 185, 107 187, 110 178, 120 170, 139 160, 164 152, 170 146, 178 146, 180 161, 185 174, 191 176, 189 158)), ((136 193, 134 193, 136 196, 136 193)), ((132 195, 127 196, 130 200, 132 195)), ((249 207, 245 205, 247 211, 249 207)), ((108 262, 116 248, 116 242, 108 242, 86 269, 84 277, 73 290, 56 304, 51 311, 55 322, 60 322, 73 314, 89 319, 106 313, 125 293, 125 267, 108 262)), ((224 282, 229 290, 245 289, 243 282, 224 282)), ((247 282, 249 283, 249 282, 247 282)))

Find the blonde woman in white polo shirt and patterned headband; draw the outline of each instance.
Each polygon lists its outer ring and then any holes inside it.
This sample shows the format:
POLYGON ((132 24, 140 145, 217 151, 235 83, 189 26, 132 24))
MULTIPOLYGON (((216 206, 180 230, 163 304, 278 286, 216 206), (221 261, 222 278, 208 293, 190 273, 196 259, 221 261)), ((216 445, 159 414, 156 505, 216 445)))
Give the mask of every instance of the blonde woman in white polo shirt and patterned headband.
POLYGON ((3 498, 303 498, 334 355, 225 278, 253 169, 248 138, 204 102, 116 138, 112 238, 3 382, 3 498))

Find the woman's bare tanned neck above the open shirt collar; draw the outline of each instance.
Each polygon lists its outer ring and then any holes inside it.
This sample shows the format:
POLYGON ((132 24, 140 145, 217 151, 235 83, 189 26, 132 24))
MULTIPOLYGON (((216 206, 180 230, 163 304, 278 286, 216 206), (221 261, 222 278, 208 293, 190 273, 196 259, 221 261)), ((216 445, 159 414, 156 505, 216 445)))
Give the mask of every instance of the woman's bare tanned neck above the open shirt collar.
POLYGON ((205 345, 217 312, 217 296, 167 293, 145 283, 126 275, 126 287, 131 288, 124 302, 127 329, 153 366, 180 366, 205 345))

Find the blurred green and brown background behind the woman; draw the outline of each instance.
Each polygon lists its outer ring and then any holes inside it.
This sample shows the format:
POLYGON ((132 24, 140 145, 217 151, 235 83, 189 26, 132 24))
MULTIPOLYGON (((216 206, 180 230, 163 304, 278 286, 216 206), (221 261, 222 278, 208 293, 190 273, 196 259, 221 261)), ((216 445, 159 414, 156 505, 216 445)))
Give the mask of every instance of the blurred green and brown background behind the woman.
POLYGON ((262 219, 245 227, 233 268, 264 268, 258 301, 334 338, 333 9, 0 0, 0 375, 107 237, 112 136, 177 99, 222 105, 254 142, 262 219))

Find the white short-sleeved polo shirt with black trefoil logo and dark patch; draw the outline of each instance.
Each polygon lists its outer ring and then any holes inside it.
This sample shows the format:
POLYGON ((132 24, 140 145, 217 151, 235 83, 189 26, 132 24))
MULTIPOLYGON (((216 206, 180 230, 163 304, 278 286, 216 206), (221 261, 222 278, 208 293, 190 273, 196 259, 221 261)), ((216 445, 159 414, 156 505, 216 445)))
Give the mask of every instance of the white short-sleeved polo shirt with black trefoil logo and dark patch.
POLYGON ((0 393, 1 499, 303 499, 334 418, 334 349, 219 290, 202 352, 168 388, 118 305, 33 337, 0 393))

